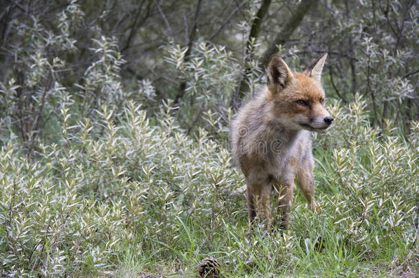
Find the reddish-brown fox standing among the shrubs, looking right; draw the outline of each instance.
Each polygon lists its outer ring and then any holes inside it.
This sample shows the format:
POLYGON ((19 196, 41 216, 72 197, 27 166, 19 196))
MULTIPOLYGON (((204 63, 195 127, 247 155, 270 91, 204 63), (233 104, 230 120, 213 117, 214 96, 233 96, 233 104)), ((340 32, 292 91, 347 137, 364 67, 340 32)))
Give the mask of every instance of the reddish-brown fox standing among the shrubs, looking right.
POLYGON ((251 224, 257 217, 267 228, 288 229, 295 180, 308 208, 316 211, 311 132, 326 130, 334 120, 321 85, 327 56, 322 54, 303 72, 272 56, 266 86, 231 121, 232 154, 245 175, 251 224), (278 196, 272 210, 271 192, 278 196))

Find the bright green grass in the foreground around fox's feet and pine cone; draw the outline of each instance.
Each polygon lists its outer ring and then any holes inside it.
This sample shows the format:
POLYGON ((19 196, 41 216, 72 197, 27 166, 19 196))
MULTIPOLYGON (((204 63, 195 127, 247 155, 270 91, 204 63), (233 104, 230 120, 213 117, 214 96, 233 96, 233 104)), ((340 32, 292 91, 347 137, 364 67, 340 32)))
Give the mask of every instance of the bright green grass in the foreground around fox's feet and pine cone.
POLYGON ((333 181, 318 181, 328 176, 325 170, 330 168, 323 155, 316 170, 321 177, 317 178, 319 213, 306 209, 304 197, 296 191, 290 227, 284 235, 267 233, 263 227, 251 231, 243 196, 238 200, 242 209, 228 222, 217 219, 212 228, 211 222, 179 219, 180 229, 173 240, 160 242, 157 238, 147 253, 141 244, 130 246, 128 254, 120 258, 122 269, 196 277, 200 259, 212 256, 221 263, 223 277, 415 277, 419 273, 417 246, 411 248, 394 236, 368 249, 337 232, 344 227, 330 219, 326 203, 339 188, 333 181))

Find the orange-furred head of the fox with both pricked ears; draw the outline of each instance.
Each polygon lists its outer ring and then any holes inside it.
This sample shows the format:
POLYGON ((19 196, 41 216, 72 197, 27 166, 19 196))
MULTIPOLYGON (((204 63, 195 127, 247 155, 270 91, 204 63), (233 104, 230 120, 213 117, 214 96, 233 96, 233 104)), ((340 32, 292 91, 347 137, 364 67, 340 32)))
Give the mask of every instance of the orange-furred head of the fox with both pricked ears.
POLYGON ((302 73, 291 71, 284 60, 273 56, 267 68, 268 101, 276 121, 293 130, 325 130, 332 124, 325 108, 321 71, 327 53, 302 73))

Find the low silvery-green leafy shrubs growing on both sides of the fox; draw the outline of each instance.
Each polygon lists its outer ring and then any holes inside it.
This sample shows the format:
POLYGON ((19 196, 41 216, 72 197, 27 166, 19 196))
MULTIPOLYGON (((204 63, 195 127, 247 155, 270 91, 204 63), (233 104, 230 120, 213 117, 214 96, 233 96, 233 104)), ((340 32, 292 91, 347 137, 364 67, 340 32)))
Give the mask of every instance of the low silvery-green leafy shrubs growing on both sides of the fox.
POLYGON ((392 128, 384 135, 370 127, 360 98, 349 108, 333 104, 337 123, 316 141, 319 213, 297 200, 284 242, 269 246, 240 235, 247 229, 244 181, 225 141, 203 129, 185 135, 170 103, 153 124, 134 102, 122 113, 102 106, 71 124, 72 105, 67 97, 60 110, 60 139, 30 157, 17 139, 3 141, 2 276, 113 273, 133 242, 160 262, 180 259, 181 268, 188 256, 219 251, 235 263, 226 273, 257 259, 269 260, 266 271, 292 269, 302 262, 301 246, 314 248, 313 231, 354 256, 378 257, 392 246, 400 257, 415 248, 418 123, 409 139, 392 128))

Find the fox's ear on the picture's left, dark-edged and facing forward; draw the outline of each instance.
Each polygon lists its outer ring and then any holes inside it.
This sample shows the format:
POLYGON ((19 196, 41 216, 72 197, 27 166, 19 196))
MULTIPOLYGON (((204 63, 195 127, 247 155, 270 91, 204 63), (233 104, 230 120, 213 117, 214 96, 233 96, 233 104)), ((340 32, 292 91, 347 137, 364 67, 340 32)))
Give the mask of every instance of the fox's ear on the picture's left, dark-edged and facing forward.
POLYGON ((286 87, 286 84, 293 78, 293 73, 284 60, 274 55, 269 60, 267 76, 268 88, 275 93, 286 87))

